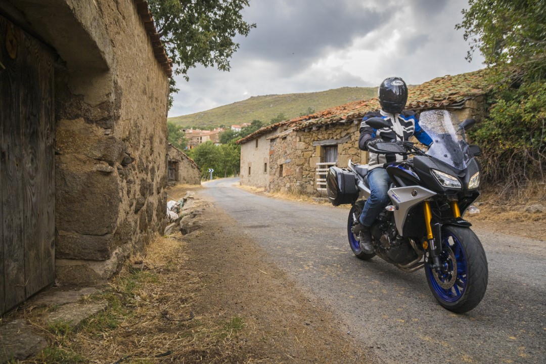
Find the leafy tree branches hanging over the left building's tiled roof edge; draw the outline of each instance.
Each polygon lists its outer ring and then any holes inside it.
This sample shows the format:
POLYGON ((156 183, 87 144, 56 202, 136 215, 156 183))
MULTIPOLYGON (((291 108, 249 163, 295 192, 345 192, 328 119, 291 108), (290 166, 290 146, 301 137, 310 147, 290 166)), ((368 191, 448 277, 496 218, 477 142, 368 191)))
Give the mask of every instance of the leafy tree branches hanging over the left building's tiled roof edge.
MULTIPOLYGON (((186 80, 197 64, 229 71, 229 58, 239 49, 233 38, 256 27, 242 19, 248 0, 149 0, 148 6, 174 73, 186 80)), ((170 89, 179 91, 173 78, 170 89)))

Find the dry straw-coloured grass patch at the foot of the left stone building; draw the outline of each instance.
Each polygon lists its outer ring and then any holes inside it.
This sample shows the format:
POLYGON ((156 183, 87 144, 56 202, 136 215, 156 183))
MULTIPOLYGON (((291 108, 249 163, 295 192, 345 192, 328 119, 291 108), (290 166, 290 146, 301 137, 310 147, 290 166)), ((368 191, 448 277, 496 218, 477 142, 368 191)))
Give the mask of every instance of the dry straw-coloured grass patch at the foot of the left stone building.
POLYGON ((77 332, 31 318, 50 345, 27 362, 219 362, 232 351, 244 319, 225 321, 192 311, 204 287, 201 273, 185 268, 184 246, 180 238, 158 237, 144 255, 131 259, 139 268, 127 264, 100 294, 86 297, 106 300, 109 307, 77 332))

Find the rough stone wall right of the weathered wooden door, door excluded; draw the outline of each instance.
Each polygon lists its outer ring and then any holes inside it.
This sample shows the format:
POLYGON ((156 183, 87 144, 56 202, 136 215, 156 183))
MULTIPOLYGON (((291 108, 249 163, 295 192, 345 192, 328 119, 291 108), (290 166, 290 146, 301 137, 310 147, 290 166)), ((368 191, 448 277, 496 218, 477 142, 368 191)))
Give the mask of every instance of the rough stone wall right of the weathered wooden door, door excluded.
POLYGON ((108 278, 164 229, 167 73, 133 0, 2 7, 58 55, 57 281, 108 278))

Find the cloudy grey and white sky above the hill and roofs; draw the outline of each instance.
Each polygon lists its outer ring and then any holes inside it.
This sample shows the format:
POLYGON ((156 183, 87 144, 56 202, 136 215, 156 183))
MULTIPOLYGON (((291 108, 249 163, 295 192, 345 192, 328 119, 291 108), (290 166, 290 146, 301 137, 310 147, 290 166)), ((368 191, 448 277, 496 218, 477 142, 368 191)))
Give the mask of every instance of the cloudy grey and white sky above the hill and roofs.
POLYGON ((483 68, 465 59, 461 10, 467 0, 250 0, 256 23, 229 72, 197 67, 176 77, 169 117, 251 96, 378 86, 389 76, 419 84, 483 68))

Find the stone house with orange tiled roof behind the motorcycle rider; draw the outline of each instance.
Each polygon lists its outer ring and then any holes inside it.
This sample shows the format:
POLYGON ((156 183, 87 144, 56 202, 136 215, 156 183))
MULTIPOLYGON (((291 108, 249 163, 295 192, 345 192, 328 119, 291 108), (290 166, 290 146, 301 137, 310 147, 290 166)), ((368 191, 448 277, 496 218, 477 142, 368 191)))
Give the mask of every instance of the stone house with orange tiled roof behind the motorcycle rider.
MULTIPOLYGON (((483 70, 437 77, 410 88, 406 109, 447 109, 461 121, 479 120, 485 115, 483 95, 487 91, 483 70)), ((352 102, 272 124, 238 140, 240 183, 321 195, 330 166, 346 167, 349 159, 367 163, 367 152, 358 148, 358 129, 366 112, 378 109, 377 98, 352 102)))

